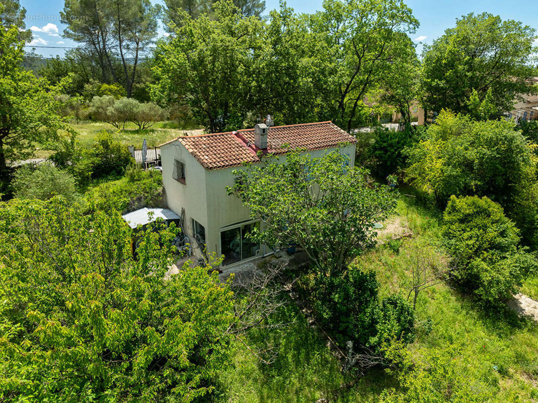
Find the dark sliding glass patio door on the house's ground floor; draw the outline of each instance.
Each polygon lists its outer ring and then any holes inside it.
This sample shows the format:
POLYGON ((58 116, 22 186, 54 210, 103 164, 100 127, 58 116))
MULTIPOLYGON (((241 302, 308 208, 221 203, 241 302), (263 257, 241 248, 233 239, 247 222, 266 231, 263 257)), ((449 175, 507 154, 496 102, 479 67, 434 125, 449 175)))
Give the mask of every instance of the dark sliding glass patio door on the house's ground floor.
POLYGON ((247 239, 259 223, 245 224, 230 230, 221 231, 221 253, 224 255, 223 266, 231 265, 260 254, 260 244, 247 239))

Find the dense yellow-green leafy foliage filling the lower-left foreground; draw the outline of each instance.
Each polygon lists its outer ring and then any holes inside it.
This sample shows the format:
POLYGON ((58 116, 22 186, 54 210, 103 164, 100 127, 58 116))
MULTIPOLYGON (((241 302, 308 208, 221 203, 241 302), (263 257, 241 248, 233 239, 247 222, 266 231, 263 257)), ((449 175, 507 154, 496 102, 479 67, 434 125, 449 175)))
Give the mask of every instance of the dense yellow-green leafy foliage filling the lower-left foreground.
POLYGON ((232 293, 187 263, 176 228, 140 233, 65 200, 0 209, 0 383, 8 400, 192 402, 229 362, 232 293))

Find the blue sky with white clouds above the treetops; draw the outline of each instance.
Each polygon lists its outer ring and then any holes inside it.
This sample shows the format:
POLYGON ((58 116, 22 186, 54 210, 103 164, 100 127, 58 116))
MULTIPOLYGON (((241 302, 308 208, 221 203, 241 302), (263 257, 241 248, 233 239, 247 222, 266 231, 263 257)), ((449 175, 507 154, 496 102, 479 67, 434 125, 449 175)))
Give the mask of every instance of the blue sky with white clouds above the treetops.
MULTIPOLYGON (((33 27, 36 46, 75 46, 73 41, 62 38, 63 24, 60 23, 60 10, 63 0, 21 0, 26 8, 26 27, 33 27)), ((322 0, 288 0, 288 6, 296 12, 314 12, 322 9, 322 0)), ((508 0, 407 0, 414 16, 420 21, 420 27, 413 39, 418 44, 429 44, 441 36, 448 27, 454 26, 455 20, 470 12, 483 11, 500 15, 502 19, 515 19, 523 24, 538 29, 538 1, 531 0, 521 4, 508 0)), ((266 0, 266 12, 278 8, 278 0, 266 0)), ((162 31, 162 30, 161 30, 162 31)), ((538 42, 537 42, 538 45, 538 42)), ((30 50, 30 47, 27 47, 30 50)), ((63 55, 65 50, 53 48, 36 48, 37 53, 46 57, 63 55)))

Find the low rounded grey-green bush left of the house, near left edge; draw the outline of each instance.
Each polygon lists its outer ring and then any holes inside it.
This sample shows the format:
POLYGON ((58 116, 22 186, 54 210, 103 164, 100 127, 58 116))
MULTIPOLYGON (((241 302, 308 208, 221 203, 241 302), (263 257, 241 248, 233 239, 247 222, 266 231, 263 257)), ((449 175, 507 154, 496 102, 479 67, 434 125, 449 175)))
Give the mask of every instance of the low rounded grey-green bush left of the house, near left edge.
POLYGON ((18 168, 12 185, 19 199, 47 200, 54 194, 70 202, 76 198, 75 178, 48 162, 18 168))

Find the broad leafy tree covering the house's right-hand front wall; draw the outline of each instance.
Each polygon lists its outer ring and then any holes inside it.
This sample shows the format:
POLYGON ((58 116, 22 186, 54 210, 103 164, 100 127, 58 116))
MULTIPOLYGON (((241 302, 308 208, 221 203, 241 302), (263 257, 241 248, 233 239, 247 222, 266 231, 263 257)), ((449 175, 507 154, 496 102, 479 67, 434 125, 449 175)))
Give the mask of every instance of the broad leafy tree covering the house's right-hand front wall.
POLYGON ((340 150, 318 158, 291 151, 285 163, 268 156, 233 175, 235 185, 228 193, 262 221, 261 242, 301 246, 320 273, 342 272, 374 245, 373 225, 395 203, 388 186, 370 183, 367 171, 349 167, 340 150))

